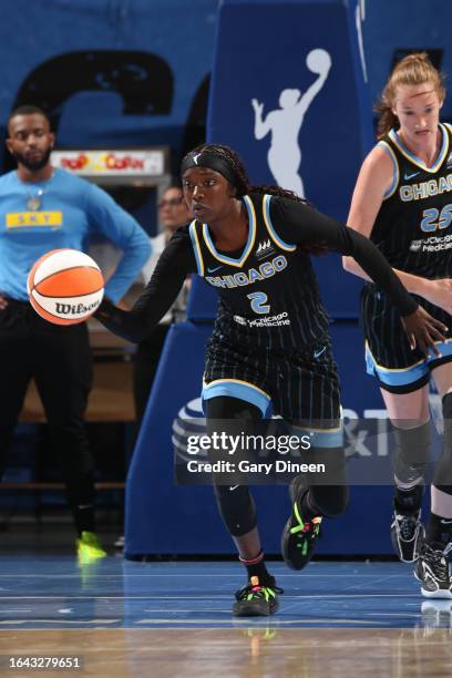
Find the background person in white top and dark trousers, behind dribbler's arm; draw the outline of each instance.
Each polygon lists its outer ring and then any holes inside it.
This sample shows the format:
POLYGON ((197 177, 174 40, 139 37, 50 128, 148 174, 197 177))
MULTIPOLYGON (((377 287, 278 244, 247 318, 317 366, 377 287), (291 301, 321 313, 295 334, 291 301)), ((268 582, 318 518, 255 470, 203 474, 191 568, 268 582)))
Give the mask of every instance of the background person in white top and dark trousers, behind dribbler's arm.
MULTIPOLYGON (((163 226, 162 233, 155 238, 151 238, 152 255, 142 269, 144 282, 151 279, 154 268, 162 251, 173 236, 174 232, 181 226, 185 226, 192 219, 188 207, 184 201, 181 185, 173 184, 163 194, 158 204, 158 219, 163 226)), ((185 281, 179 295, 173 306, 165 314, 158 325, 152 330, 151 335, 137 346, 133 366, 133 393, 136 412, 136 434, 140 431, 144 411, 151 387, 157 370, 160 356, 170 326, 173 322, 185 320, 185 309, 188 292, 189 279, 185 281)))

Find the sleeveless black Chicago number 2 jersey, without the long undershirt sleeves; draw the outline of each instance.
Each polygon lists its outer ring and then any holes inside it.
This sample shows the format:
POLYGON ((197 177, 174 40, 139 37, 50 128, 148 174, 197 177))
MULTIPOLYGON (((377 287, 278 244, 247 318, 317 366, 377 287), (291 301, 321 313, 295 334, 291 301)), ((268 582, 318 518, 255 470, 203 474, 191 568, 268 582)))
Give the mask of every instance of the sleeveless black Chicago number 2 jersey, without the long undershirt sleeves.
POLYGON ((207 224, 189 225, 197 273, 219 295, 214 335, 256 347, 295 348, 325 336, 328 317, 310 258, 284 242, 270 195, 245 196, 249 230, 238 251, 215 248, 207 224))

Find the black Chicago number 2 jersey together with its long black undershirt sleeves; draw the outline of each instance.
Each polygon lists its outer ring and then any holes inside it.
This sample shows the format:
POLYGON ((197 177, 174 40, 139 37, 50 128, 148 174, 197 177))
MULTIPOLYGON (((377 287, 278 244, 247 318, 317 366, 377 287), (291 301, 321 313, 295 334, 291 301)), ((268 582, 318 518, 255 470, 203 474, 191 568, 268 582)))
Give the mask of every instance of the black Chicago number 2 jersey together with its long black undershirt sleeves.
POLYGON ((101 322, 126 339, 141 341, 173 304, 186 275, 197 273, 220 297, 215 333, 261 348, 314 346, 328 325, 305 254, 316 244, 353 257, 401 315, 415 310, 415 301, 368 238, 301 202, 259 193, 243 202, 249 229, 240 250, 217 250, 206 224, 195 220, 179 228, 132 311, 105 301, 101 322))

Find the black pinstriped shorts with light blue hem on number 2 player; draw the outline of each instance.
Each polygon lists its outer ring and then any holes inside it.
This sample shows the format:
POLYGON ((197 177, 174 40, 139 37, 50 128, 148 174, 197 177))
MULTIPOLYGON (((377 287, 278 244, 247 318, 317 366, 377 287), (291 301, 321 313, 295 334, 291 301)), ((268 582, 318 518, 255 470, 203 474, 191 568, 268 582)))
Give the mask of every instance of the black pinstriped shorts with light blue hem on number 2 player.
POLYGON ((319 448, 342 444, 340 384, 329 337, 309 349, 251 349, 212 337, 203 400, 226 396, 309 430, 319 448))

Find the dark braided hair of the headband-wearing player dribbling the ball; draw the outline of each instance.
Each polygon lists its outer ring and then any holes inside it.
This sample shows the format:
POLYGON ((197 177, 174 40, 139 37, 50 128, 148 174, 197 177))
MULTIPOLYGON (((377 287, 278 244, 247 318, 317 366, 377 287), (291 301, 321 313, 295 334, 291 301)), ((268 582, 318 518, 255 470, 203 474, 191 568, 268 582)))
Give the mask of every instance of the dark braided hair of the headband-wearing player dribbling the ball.
MULTIPOLYGON (((263 195, 275 195, 289 201, 295 201, 296 203, 309 205, 308 201, 299 197, 299 195, 297 195, 294 191, 288 191, 287 188, 281 188, 280 186, 276 185, 250 184, 243 160, 235 151, 233 151, 233 148, 230 148, 230 146, 225 146, 222 144, 201 144, 184 156, 182 167, 184 167, 184 164, 187 163, 191 157, 196 156, 197 154, 201 155, 203 153, 208 153, 209 156, 215 156, 226 164, 228 170, 226 178, 236 189, 237 198, 242 198, 244 195, 248 195, 249 193, 259 193, 263 195)), ((202 166, 202 161, 199 164, 202 166)), ((320 242, 300 246, 300 249, 307 254, 314 255, 321 255, 328 251, 327 246, 320 242)))

